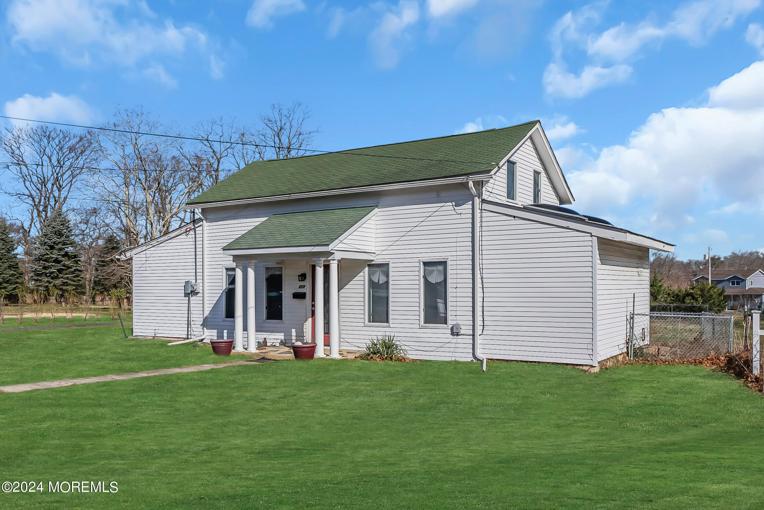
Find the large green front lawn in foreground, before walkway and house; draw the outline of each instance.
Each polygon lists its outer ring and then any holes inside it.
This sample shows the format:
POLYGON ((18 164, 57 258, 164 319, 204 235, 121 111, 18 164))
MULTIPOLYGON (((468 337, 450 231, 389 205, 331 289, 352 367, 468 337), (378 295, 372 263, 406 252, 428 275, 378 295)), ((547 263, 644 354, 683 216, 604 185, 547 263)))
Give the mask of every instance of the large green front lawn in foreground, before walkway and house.
POLYGON ((119 488, 2 508, 764 506, 764 399, 697 366, 234 366, 0 395, 0 444, 3 480, 119 488))

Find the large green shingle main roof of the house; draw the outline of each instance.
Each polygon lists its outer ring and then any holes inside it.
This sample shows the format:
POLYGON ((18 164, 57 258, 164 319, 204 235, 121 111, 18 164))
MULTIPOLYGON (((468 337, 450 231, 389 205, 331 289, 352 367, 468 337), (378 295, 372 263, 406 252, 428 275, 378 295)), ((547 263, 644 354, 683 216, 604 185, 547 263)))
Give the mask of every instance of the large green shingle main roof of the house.
POLYGON ((188 203, 260 199, 485 172, 506 157, 537 123, 284 160, 255 161, 188 203))

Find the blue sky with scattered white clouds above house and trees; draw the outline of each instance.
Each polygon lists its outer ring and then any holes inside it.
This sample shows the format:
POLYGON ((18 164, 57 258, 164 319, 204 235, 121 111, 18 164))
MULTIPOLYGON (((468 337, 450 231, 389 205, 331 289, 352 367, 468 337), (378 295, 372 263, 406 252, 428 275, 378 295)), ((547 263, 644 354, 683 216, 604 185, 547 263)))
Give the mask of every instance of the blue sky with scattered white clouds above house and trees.
POLYGON ((6 115, 183 127, 300 101, 339 150, 540 118, 574 208, 677 244, 764 248, 760 0, 12 0, 6 115))

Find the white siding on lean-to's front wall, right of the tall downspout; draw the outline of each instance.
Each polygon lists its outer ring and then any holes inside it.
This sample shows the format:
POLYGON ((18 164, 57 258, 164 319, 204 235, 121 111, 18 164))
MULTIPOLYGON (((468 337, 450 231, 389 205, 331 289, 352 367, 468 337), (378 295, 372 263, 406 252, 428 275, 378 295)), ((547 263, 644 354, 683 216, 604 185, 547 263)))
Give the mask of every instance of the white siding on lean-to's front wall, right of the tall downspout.
POLYGON ((591 364, 591 236, 485 210, 482 234, 482 353, 591 364))

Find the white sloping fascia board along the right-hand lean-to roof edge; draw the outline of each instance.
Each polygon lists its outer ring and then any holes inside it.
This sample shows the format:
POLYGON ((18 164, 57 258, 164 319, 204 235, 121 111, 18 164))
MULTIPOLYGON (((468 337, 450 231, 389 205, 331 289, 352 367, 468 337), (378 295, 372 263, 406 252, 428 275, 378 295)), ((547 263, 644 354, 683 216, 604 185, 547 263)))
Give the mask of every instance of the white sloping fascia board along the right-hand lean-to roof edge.
POLYGON ((497 202, 484 201, 484 208, 488 211, 496 212, 500 215, 515 216, 529 221, 537 221, 555 225, 555 227, 568 228, 572 231, 585 232, 602 239, 617 240, 621 243, 634 244, 636 246, 650 248, 651 250, 666 251, 673 253, 674 245, 665 243, 662 240, 652 239, 633 232, 623 230, 623 228, 607 227, 591 221, 578 221, 568 219, 554 214, 545 214, 542 212, 529 211, 526 208, 516 207, 514 205, 499 204, 497 202))

